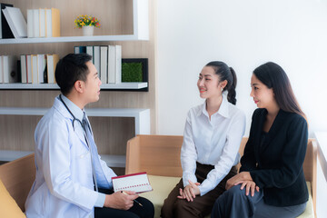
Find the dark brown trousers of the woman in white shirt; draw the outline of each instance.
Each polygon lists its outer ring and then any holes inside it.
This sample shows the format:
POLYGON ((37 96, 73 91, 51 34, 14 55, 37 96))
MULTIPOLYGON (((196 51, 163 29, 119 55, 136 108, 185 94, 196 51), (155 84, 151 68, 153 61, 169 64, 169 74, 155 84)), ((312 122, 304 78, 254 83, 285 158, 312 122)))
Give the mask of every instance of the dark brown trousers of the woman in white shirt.
MULTIPOLYGON (((214 168, 213 165, 196 163, 195 176, 199 183, 206 179, 207 174, 214 168)), ((192 218, 204 217, 212 212, 213 203, 224 192, 225 184, 228 179, 237 173, 236 167, 233 166, 231 171, 223 178, 212 191, 205 193, 203 196, 197 195, 193 202, 178 199, 179 189, 183 189, 183 179, 173 188, 168 197, 164 200, 161 216, 163 218, 192 218)))

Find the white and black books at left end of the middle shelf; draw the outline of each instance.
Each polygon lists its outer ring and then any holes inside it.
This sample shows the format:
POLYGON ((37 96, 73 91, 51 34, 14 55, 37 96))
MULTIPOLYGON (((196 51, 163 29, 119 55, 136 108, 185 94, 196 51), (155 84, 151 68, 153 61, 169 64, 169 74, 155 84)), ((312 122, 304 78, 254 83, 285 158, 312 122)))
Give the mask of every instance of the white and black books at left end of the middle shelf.
POLYGON ((0 56, 0 84, 12 84, 18 81, 17 57, 15 55, 0 56))

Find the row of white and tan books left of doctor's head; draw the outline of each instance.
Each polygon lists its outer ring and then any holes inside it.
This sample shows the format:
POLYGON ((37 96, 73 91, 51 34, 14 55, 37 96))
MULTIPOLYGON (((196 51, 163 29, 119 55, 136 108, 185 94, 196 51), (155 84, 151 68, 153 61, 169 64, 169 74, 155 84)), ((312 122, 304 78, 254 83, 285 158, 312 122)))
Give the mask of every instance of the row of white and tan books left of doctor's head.
POLYGON ((55 84, 58 54, 22 54, 20 58, 23 84, 55 84))

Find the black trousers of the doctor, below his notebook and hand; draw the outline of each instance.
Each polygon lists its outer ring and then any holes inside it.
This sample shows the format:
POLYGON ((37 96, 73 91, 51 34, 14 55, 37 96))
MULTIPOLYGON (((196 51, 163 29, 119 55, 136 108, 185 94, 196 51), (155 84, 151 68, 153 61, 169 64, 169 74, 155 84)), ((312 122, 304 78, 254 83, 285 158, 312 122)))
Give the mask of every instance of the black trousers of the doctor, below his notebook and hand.
MULTIPOLYGON (((99 193, 111 194, 114 193, 112 190, 99 189, 99 193)), ((94 217, 95 218, 154 218, 154 204, 143 197, 136 199, 139 203, 144 206, 140 206, 134 203, 128 211, 109 208, 109 207, 95 207, 94 217)))

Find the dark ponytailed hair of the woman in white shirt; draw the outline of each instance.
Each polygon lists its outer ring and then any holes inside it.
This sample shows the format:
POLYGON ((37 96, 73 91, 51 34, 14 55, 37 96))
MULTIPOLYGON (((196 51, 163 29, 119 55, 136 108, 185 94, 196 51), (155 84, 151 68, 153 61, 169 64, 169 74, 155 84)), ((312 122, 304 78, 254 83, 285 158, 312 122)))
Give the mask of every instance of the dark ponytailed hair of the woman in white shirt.
POLYGON ((220 61, 213 61, 205 66, 213 67, 214 73, 219 76, 220 82, 227 80, 227 85, 223 88, 223 91, 227 90, 227 100, 232 104, 236 104, 236 84, 237 78, 235 71, 232 67, 228 67, 227 64, 220 61))

